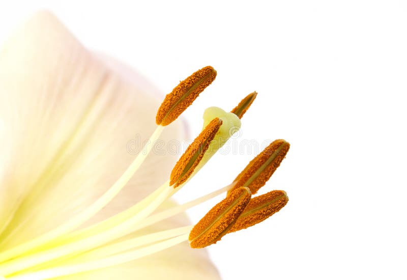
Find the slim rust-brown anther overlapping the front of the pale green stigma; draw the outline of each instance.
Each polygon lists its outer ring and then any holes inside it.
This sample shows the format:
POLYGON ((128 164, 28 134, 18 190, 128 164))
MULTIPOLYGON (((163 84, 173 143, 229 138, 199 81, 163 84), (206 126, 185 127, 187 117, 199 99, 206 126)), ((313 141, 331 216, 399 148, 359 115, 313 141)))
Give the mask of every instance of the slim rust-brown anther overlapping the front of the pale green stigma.
POLYGON ((195 138, 194 142, 188 146, 185 153, 180 157, 174 168, 172 169, 169 185, 174 188, 178 187, 186 180, 194 171, 203 155, 209 148, 209 144, 215 137, 222 120, 219 118, 213 119, 195 138))

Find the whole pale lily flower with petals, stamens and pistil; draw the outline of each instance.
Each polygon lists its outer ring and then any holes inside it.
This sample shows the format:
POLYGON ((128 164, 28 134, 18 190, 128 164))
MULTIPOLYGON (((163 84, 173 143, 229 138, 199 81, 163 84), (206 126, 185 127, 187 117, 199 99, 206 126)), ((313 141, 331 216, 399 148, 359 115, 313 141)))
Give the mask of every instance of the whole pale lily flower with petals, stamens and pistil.
POLYGON ((177 118, 215 77, 210 66, 196 71, 160 105, 146 80, 86 50, 52 14, 21 25, 0 49, 0 279, 219 279, 202 248, 285 206, 284 191, 252 194, 289 144, 270 144, 230 185, 172 201, 257 95, 231 112, 208 108, 178 161, 151 152, 185 138, 177 118), (222 193, 191 225, 185 210, 222 193))

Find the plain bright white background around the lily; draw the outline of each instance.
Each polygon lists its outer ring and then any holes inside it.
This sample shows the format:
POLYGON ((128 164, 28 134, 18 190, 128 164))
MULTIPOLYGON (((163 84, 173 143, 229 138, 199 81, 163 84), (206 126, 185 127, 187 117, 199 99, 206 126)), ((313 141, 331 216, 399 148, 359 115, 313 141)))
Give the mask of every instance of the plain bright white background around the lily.
MULTIPOLYGON (((0 40, 48 8, 163 93, 212 65, 216 82, 185 113, 191 135, 206 107, 256 90, 235 143, 292 145, 262 190, 286 190, 287 206, 209 248, 224 279, 407 278, 407 3, 83 2, 1 1, 0 40)), ((255 154, 216 155, 179 199, 230 183, 255 154)))

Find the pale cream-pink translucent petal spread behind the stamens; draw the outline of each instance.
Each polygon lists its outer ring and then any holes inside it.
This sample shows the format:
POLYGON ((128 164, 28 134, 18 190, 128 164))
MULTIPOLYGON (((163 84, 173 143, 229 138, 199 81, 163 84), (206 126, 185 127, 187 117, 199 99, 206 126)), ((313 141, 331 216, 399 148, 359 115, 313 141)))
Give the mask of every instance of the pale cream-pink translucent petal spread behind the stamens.
MULTIPOLYGON (((126 76, 87 51, 47 12, 20 27, 0 50, 0 249, 80 213, 120 177, 135 157, 129 142, 143 142, 155 128, 155 92, 142 77, 126 76)), ((161 138, 179 138, 181 127, 170 125, 161 138)), ((149 156, 99 218, 166 181, 176 157, 149 156)), ((161 275, 217 277, 205 251, 188 244, 104 273, 143 278, 153 266, 161 275)))

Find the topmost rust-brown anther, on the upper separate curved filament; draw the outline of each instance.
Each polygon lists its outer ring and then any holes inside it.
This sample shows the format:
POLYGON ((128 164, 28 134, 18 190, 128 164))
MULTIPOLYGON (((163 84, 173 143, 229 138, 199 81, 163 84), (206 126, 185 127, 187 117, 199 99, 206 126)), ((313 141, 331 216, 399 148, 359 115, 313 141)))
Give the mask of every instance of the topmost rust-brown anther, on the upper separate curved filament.
POLYGON ((207 66, 181 81, 165 96, 157 111, 157 125, 166 126, 175 121, 215 78, 216 70, 212 66, 207 66))

